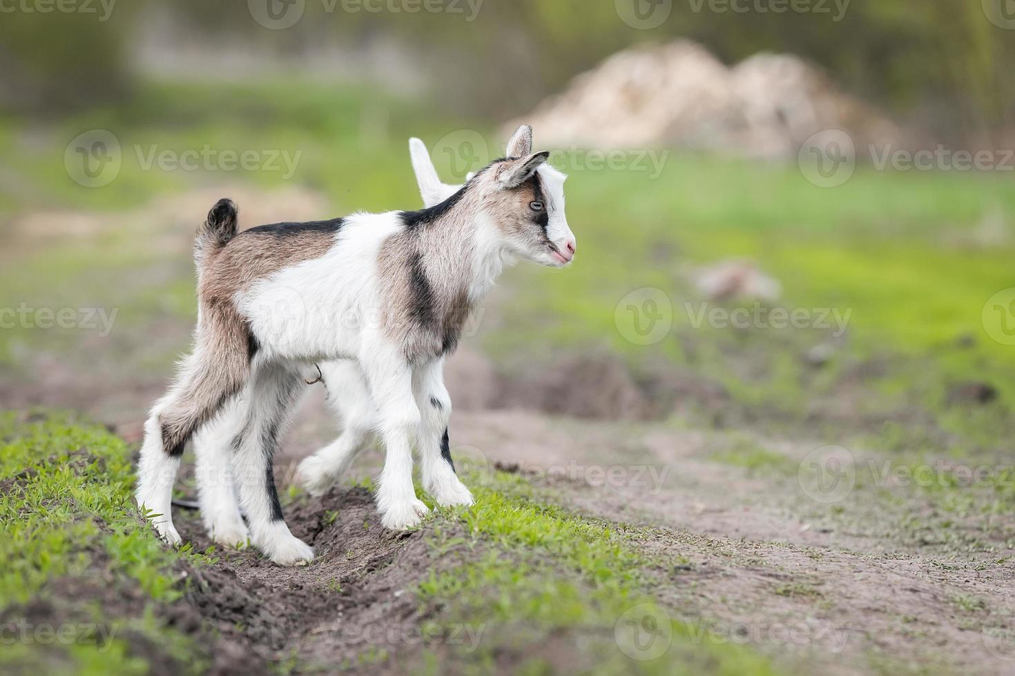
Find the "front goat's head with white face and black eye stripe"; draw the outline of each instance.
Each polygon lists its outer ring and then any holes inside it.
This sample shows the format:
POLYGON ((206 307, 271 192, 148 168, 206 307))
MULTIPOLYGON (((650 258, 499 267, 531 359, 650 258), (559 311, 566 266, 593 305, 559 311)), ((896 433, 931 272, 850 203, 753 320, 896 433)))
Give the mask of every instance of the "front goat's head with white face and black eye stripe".
POLYGON ((523 125, 507 143, 507 157, 479 171, 468 185, 477 191, 505 249, 562 268, 574 257, 576 242, 564 215, 567 176, 546 163, 549 156, 532 152, 532 128, 523 125))

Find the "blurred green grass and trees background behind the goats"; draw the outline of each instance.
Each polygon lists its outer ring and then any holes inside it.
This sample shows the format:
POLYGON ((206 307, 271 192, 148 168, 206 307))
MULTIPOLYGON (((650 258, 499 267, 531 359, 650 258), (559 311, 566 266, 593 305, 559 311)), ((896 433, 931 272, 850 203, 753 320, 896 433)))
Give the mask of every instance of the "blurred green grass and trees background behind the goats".
MULTIPOLYGON (((687 37, 727 64, 794 54, 923 138, 969 151, 1012 146, 1015 41, 991 20, 990 3, 812 3, 827 13, 664 3, 668 19, 648 29, 612 1, 299 4, 300 20, 284 29, 265 27, 246 1, 4 15, 0 305, 118 312, 108 335, 0 332, 7 406, 140 417, 186 349, 189 239, 215 196, 275 204, 277 220, 415 208, 409 136, 432 147, 478 134, 493 153, 505 123, 632 46, 687 37), (65 155, 93 130, 116 138, 122 162, 115 179, 89 187, 65 155), (291 172, 282 159, 282 170, 151 163, 204 148, 275 153, 293 160, 291 172)), ((557 274, 513 270, 468 342, 499 374, 501 405, 517 402, 513 388, 538 386, 548 365, 588 370, 596 382, 619 364, 620 384, 610 376, 603 387, 633 388, 640 402, 619 418, 917 454, 1008 450, 1015 348, 1001 331, 1015 316, 1007 301, 995 309, 989 300, 1015 285, 1010 171, 861 162, 849 181, 822 187, 792 159, 642 150, 665 159, 658 176, 564 161, 580 259, 557 274), (781 295, 703 298, 694 271, 728 259, 751 261, 781 295), (646 287, 663 292, 660 318, 672 322, 649 346, 629 340, 622 307, 646 287), (727 311, 834 309, 850 313, 849 325, 695 326, 692 310, 706 301, 727 311)), ((437 168, 461 179, 451 159, 437 153, 437 168)))

